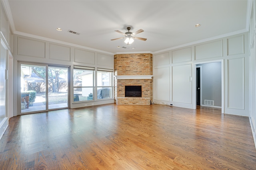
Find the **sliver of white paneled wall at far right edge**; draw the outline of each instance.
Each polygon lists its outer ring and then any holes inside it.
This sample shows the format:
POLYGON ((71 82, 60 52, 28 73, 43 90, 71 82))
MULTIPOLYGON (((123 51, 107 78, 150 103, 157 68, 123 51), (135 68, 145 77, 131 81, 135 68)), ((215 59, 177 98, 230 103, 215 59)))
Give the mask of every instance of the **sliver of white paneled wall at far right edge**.
POLYGON ((254 143, 256 144, 256 1, 252 0, 248 2, 252 3, 249 26, 249 119, 252 127, 254 143))

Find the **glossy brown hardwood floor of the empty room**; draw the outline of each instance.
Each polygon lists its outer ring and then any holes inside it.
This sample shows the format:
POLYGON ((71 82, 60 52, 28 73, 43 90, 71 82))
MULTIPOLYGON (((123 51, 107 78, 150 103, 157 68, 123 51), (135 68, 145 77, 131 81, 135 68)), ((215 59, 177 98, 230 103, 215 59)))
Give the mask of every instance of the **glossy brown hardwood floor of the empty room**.
POLYGON ((107 104, 12 117, 0 170, 252 170, 248 117, 107 104))

